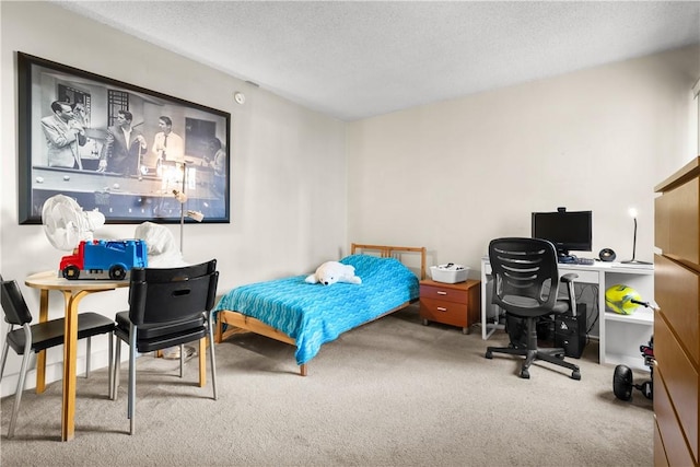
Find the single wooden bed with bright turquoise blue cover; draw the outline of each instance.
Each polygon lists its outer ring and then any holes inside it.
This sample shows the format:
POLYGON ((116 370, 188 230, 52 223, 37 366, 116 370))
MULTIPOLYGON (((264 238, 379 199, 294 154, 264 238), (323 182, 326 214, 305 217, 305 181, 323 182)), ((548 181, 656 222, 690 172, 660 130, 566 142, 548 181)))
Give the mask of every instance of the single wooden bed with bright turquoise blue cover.
POLYGON ((214 307, 215 341, 244 330, 295 346, 306 376, 324 343, 405 308, 418 300, 419 278, 425 277, 424 247, 352 244, 340 262, 353 266, 362 283, 326 287, 295 276, 231 290, 214 307))

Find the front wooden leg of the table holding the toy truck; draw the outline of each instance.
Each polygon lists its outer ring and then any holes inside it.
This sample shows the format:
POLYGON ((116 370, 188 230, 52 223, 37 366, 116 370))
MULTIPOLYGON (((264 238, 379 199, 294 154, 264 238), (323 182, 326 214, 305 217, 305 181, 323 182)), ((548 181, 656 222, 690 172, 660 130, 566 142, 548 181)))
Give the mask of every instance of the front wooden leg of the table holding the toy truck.
POLYGON ((75 436, 75 375, 78 373, 78 304, 89 292, 62 291, 66 300, 63 342, 63 402, 61 408, 61 440, 75 436))

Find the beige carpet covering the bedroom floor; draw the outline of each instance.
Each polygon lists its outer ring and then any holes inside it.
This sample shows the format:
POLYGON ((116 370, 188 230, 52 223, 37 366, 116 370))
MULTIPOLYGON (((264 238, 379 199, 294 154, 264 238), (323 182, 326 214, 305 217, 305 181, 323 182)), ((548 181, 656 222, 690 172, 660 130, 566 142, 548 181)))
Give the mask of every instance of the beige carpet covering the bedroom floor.
MULTIPOLYGON (((25 392, 13 440, 2 400, 2 466, 651 466, 652 402, 612 394, 597 346, 582 380, 538 363, 517 376, 509 357, 483 358, 475 327, 422 326, 416 307, 341 336, 307 377, 293 348, 241 335, 217 346, 219 400, 199 388, 196 360, 139 359, 137 433, 106 370, 79 377, 75 439, 60 443, 60 383, 25 392)), ((644 342, 640 342, 644 343, 644 342)), ((126 354, 126 349, 122 352, 126 354)), ((641 357, 640 357, 641 359, 641 357)), ((648 376, 635 372, 637 381, 648 376)))

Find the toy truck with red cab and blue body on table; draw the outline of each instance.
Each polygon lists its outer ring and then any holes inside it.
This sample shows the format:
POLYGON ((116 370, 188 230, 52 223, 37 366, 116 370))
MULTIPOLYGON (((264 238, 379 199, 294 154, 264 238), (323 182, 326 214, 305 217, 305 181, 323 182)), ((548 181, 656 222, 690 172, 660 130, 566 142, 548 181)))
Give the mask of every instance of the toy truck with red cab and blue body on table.
POLYGON ((148 267, 145 242, 142 240, 82 241, 72 255, 61 258, 60 271, 66 279, 127 279, 131 268, 148 267))

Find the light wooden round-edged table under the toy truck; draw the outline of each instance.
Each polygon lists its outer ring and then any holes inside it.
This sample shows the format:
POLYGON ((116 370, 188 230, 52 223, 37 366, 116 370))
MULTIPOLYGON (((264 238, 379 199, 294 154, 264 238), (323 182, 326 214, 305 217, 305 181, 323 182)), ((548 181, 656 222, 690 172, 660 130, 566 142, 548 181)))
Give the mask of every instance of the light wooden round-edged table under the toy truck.
MULTIPOLYGON (((27 287, 40 290, 39 322, 48 319, 48 292, 57 290, 66 301, 63 343, 63 401, 61 406, 61 440, 70 441, 75 435, 75 374, 78 354, 78 304, 88 294, 129 287, 128 280, 67 280, 57 271, 39 272, 27 277, 27 287)), ((39 352, 36 361, 36 392, 46 388, 46 351, 39 352)))

